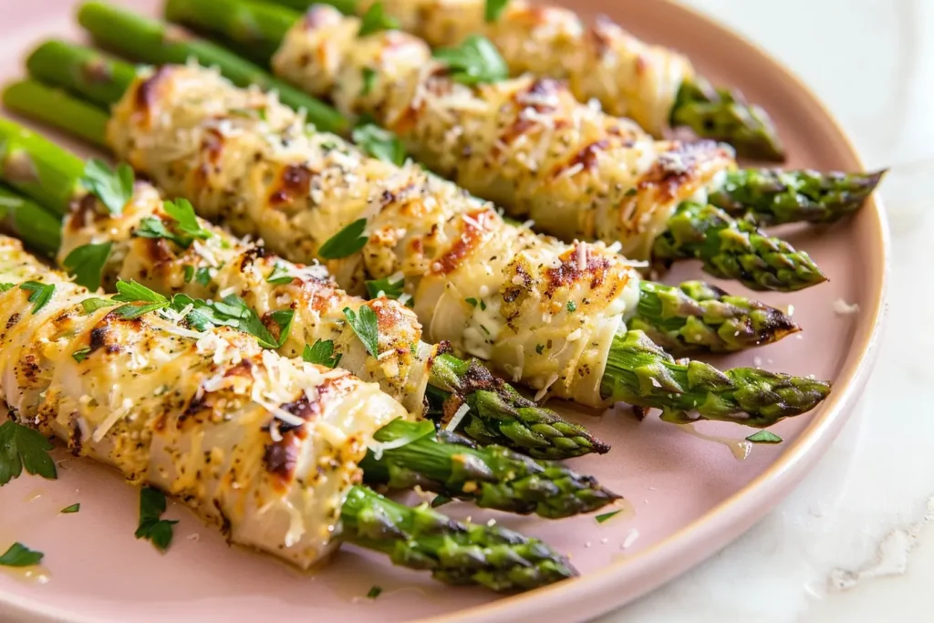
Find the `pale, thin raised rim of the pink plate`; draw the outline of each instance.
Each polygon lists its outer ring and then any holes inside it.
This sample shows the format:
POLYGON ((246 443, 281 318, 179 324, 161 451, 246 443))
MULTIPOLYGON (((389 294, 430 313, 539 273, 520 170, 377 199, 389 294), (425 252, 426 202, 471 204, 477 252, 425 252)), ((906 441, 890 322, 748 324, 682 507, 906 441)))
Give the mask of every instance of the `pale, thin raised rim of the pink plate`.
MULTIPOLYGON (((689 14, 692 20, 701 22, 703 27, 715 31, 718 35, 732 38, 737 46, 745 48, 750 54, 769 64, 777 75, 793 84, 795 89, 806 97, 808 104, 814 106, 824 120, 828 121, 830 130, 836 135, 842 148, 845 148, 846 157, 860 170, 865 170, 862 157, 840 120, 814 90, 784 63, 698 8, 674 0, 656 2, 666 5, 669 9, 689 14)), ((875 277, 875 282, 867 289, 872 296, 872 308, 861 314, 862 320, 856 326, 855 340, 860 340, 860 343, 852 348, 858 351, 858 355, 855 361, 841 371, 840 378, 835 382, 835 391, 830 394, 820 414, 812 419, 798 438, 762 474, 738 489, 723 503, 630 559, 614 562, 573 580, 460 612, 419 618, 416 619, 417 623, 492 623, 514 620, 519 613, 523 617, 547 613, 551 620, 586 620, 601 616, 686 573, 739 538, 758 519, 770 513, 823 457, 862 396, 865 389, 863 381, 868 378, 878 359, 879 344, 888 317, 886 295, 891 272, 890 232, 884 204, 878 193, 873 193, 860 214, 870 215, 874 219, 871 223, 873 231, 870 233, 874 238, 872 257, 881 262, 876 275, 870 275, 875 277), (714 542, 715 546, 705 546, 686 554, 685 550, 701 540, 714 542), (620 589, 624 582, 633 579, 638 584, 640 575, 651 575, 654 579, 643 580, 642 586, 634 589, 620 589), (660 582, 658 578, 661 578, 660 582)), ((21 599, 16 593, 7 590, 0 591, 0 615, 28 616, 30 620, 95 623, 95 619, 70 613, 56 606, 21 599)))

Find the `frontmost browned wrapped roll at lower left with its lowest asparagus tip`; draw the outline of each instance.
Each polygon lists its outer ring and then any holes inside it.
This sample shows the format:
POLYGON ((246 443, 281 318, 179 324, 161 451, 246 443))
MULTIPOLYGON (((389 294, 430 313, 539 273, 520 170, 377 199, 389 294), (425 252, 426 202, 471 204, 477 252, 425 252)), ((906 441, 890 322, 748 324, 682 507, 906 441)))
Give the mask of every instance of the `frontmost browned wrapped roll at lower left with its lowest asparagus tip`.
POLYGON ((233 543, 307 568, 343 539, 497 590, 575 573, 534 539, 355 485, 366 444, 405 416, 375 384, 227 327, 195 331, 138 284, 90 296, 6 237, 0 282, 0 398, 14 418, 178 495, 233 543))

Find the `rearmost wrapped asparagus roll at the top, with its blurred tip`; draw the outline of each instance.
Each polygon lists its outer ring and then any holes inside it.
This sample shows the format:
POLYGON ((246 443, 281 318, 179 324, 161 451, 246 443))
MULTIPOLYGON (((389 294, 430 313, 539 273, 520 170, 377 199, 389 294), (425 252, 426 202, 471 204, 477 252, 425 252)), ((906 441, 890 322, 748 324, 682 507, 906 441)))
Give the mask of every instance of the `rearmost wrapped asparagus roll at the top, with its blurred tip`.
MULTIPOLYGON (((316 0, 276 0, 304 10, 316 0)), ((177 4, 182 4, 178 0, 177 4)), ((572 9, 525 0, 329 0, 347 14, 366 15, 376 4, 404 31, 433 48, 484 35, 512 76, 531 74, 568 83, 581 102, 597 100, 616 117, 629 117, 657 137, 688 126, 702 138, 724 141, 744 156, 784 160, 768 114, 740 92, 715 89, 682 54, 650 45, 614 21, 587 25, 572 9)))

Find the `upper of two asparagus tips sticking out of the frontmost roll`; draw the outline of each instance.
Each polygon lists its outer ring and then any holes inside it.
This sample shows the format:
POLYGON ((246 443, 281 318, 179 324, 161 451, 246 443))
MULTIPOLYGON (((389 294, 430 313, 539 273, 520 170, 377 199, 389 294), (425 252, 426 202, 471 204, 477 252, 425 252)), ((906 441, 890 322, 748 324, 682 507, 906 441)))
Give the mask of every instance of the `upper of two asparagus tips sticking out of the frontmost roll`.
MULTIPOLYGON (((412 424, 395 420, 376 433, 391 444, 411 434, 412 424)), ((502 446, 478 447, 439 431, 405 446, 372 451, 361 462, 366 483, 406 489, 416 486, 474 502, 481 508, 558 519, 589 513, 619 499, 591 476, 554 462, 532 460, 502 446)))

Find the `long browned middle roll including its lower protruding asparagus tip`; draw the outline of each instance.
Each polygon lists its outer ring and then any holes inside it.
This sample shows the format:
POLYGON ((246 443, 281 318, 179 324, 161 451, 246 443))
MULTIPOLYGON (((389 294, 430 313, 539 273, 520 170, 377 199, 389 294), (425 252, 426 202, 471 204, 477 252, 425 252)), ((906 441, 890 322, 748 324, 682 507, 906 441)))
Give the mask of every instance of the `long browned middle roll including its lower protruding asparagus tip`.
POLYGON ((214 72, 166 65, 142 76, 115 106, 108 142, 234 231, 292 260, 329 259, 338 282, 401 272, 430 337, 542 395, 764 426, 827 394, 810 379, 674 361, 625 331, 639 276, 618 254, 510 225, 456 187, 364 158, 214 72))

